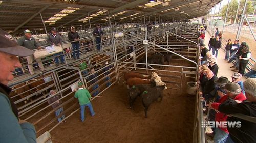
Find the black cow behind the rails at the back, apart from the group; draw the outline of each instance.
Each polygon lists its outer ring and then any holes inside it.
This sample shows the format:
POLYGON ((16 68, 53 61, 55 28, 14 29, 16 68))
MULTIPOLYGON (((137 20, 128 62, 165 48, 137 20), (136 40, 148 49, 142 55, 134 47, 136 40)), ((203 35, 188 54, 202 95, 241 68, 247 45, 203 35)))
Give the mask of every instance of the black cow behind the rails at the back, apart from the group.
MULTIPOLYGON (((145 56, 139 60, 139 63, 146 63, 145 56)), ((163 54, 153 54, 152 56, 147 57, 147 63, 164 65, 164 55, 163 54)), ((139 67, 145 68, 146 65, 140 65, 139 67)), ((161 67, 161 69, 164 69, 164 66, 160 66, 160 67, 161 67)))

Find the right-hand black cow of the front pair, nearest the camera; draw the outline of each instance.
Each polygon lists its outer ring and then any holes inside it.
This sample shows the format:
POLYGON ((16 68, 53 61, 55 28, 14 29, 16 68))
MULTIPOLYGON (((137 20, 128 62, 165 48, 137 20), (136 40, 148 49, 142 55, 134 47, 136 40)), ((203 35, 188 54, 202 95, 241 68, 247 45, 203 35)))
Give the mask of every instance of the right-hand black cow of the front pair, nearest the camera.
POLYGON ((147 110, 150 104, 153 101, 157 100, 159 97, 161 98, 161 101, 162 101, 164 88, 165 86, 150 88, 142 92, 142 94, 140 95, 142 98, 143 106, 144 106, 145 118, 147 118, 147 110))

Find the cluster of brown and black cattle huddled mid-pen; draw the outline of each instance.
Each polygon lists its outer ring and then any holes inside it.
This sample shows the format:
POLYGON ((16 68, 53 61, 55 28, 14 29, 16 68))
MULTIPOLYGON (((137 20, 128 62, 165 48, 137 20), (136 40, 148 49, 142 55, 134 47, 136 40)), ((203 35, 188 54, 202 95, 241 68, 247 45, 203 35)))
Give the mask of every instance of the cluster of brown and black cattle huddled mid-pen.
POLYGON ((161 80, 156 72, 152 72, 151 75, 144 75, 135 72, 127 72, 124 75, 129 95, 130 108, 133 108, 133 103, 137 97, 141 97, 142 104, 144 106, 145 118, 147 118, 147 110, 153 101, 158 98, 162 100, 163 90, 167 89, 167 86, 161 80))

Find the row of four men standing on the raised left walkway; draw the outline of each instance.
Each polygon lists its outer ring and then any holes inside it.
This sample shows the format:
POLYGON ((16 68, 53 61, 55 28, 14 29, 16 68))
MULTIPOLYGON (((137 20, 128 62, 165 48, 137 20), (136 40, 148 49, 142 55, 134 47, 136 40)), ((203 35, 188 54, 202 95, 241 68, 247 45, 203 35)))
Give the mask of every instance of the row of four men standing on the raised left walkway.
MULTIPOLYGON (((103 35, 103 31, 101 30, 101 26, 99 24, 96 25, 96 28, 93 31, 93 35, 95 36, 97 51, 102 50, 101 35, 103 35)), ((70 42, 72 44, 72 55, 73 55, 74 60, 80 59, 81 46, 84 47, 84 50, 86 52, 89 52, 92 50, 93 41, 80 40, 80 36, 74 26, 71 26, 71 28, 70 28, 70 32, 68 33, 68 39, 70 40, 70 42)), ((25 48, 28 48, 30 50, 42 49, 42 47, 39 46, 39 44, 37 43, 35 38, 32 36, 32 32, 28 29, 24 31, 24 36, 19 38, 17 40, 17 42, 20 46, 24 46, 25 48)), ((58 46, 58 45, 62 44, 61 35, 57 32, 56 28, 54 28, 54 27, 51 28, 51 30, 47 36, 47 43, 49 45, 54 45, 54 46, 58 46)), ((60 58, 60 64, 65 64, 64 56, 65 56, 65 54, 63 52, 55 53, 53 55, 55 66, 59 66, 59 58, 60 58)), ((30 55, 30 56, 27 56, 26 59, 28 62, 29 73, 31 75, 34 75, 35 73, 34 73, 32 63, 35 58, 33 55, 30 55)), ((44 72, 45 68, 42 63, 41 58, 36 58, 35 61, 37 62, 36 64, 38 64, 39 68, 41 69, 41 72, 44 72)), ((18 72, 19 72, 18 74, 22 74, 21 73, 22 70, 18 70, 18 72)))

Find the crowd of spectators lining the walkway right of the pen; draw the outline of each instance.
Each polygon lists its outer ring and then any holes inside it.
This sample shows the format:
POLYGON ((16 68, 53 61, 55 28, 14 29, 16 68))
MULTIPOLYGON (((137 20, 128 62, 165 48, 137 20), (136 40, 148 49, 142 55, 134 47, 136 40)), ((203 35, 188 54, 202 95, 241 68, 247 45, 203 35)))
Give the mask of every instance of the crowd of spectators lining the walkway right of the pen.
MULTIPOLYGON (((217 127, 212 128, 212 133, 206 133, 213 138, 215 143, 221 142, 255 142, 256 124, 245 119, 232 117, 230 114, 241 113, 251 117, 256 117, 256 66, 245 73, 246 65, 249 62, 251 53, 245 41, 227 40, 225 46, 225 58, 223 60, 231 63, 234 61, 234 68, 231 76, 232 81, 227 77, 217 77, 219 67, 217 65, 218 50, 221 48, 220 32, 216 31, 215 36, 209 40, 207 49, 203 41, 205 37, 201 27, 199 36, 200 44, 200 78, 198 85, 202 96, 204 111, 208 115, 208 121, 222 122, 241 121, 241 127, 217 127), (212 51, 211 51, 212 50, 212 51), (242 77, 246 76, 244 82, 242 77)), ((222 35, 222 34, 221 34, 222 35)))

